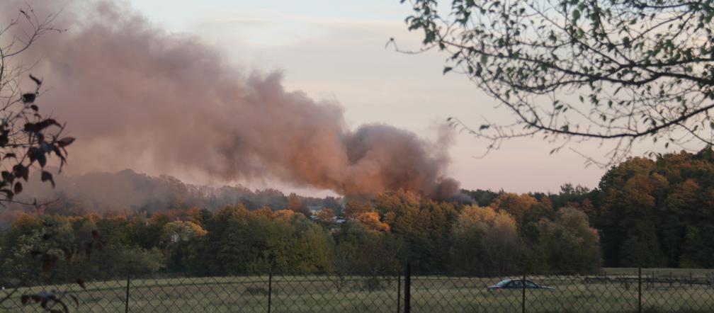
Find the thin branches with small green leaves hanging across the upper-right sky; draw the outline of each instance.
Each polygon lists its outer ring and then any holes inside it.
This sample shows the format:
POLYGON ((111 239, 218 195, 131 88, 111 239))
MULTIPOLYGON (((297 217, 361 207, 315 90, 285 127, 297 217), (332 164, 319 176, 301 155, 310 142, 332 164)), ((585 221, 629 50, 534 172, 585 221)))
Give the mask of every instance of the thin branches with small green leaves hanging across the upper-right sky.
POLYGON ((406 23, 423 32, 420 51, 449 54, 444 74, 468 76, 513 116, 478 128, 449 119, 488 150, 523 136, 543 136, 551 152, 595 139, 614 143, 613 164, 643 139, 713 143, 709 1, 448 2, 411 0, 406 23))

